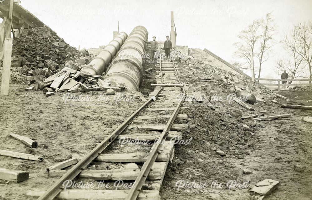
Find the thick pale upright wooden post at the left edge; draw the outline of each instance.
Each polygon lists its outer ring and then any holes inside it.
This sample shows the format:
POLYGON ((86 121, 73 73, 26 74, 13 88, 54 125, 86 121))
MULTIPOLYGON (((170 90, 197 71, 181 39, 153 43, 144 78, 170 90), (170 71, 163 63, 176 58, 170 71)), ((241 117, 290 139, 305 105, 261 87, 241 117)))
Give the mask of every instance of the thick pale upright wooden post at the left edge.
POLYGON ((12 54, 12 38, 4 39, 3 47, 3 67, 0 95, 9 94, 10 69, 11 69, 11 54, 12 54))

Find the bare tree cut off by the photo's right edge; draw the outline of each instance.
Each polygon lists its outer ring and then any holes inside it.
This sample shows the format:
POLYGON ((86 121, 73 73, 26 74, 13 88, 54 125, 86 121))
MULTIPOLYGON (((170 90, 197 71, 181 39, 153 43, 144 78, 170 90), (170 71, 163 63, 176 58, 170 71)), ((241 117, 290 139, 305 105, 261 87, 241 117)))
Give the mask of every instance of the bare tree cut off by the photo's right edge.
MULTIPOLYGON (((298 36, 300 41, 300 48, 298 54, 303 57, 303 61, 309 67, 310 79, 312 78, 312 25, 305 23, 297 26, 298 36)), ((309 82, 311 83, 311 81, 309 82)))

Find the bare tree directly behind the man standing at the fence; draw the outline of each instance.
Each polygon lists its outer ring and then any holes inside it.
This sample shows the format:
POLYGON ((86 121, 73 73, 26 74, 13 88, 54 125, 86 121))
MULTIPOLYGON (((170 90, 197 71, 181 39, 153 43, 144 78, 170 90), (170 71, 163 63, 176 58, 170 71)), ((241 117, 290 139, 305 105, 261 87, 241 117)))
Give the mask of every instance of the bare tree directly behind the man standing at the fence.
POLYGON ((290 75, 290 79, 295 79, 299 77, 301 73, 304 73, 304 65, 302 63, 303 57, 300 53, 298 53, 300 49, 299 28, 294 26, 294 28, 287 35, 285 35, 285 38, 281 41, 281 43, 289 55, 289 58, 277 61, 276 69, 278 72, 286 70, 290 75))

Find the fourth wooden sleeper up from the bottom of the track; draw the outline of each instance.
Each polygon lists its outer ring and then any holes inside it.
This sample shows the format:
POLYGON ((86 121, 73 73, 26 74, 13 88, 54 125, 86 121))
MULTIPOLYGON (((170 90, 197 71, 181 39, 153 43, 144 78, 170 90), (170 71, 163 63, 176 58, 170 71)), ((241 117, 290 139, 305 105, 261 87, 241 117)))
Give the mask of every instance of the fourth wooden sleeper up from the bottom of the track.
MULTIPOLYGON (((125 134, 125 135, 119 135, 116 139, 128 139, 128 140, 139 140, 139 141, 154 141, 159 138, 158 133, 151 133, 151 134, 125 134)), ((169 131, 167 138, 168 140, 170 139, 182 139, 182 133, 177 132, 177 131, 169 131)))

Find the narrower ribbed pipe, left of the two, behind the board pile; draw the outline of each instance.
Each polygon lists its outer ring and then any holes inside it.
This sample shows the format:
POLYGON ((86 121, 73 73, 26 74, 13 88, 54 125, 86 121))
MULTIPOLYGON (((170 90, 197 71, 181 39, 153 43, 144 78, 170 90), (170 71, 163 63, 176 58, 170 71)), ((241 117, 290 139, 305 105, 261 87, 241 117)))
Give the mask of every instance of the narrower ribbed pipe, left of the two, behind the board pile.
POLYGON ((113 57, 119 51, 120 47, 124 44, 124 41, 127 39, 128 35, 125 32, 120 32, 114 40, 105 46, 104 50, 101 51, 96 57, 94 57, 88 66, 85 66, 81 69, 81 72, 90 75, 101 75, 103 71, 106 70, 106 66, 113 57))

